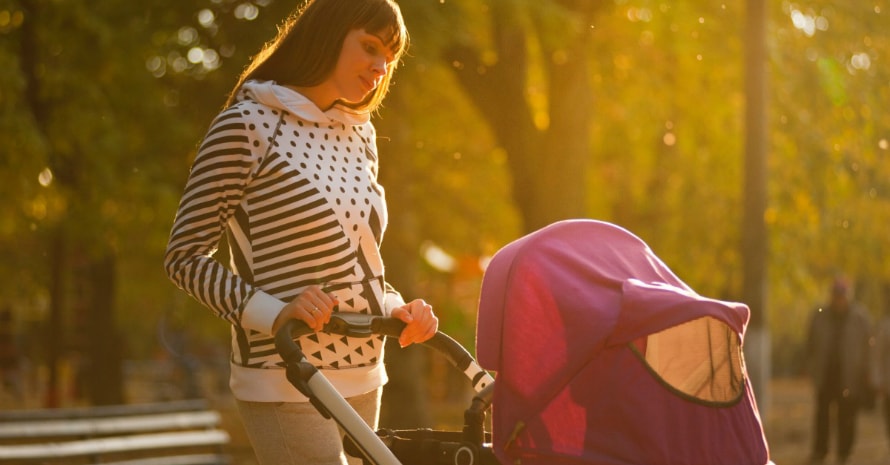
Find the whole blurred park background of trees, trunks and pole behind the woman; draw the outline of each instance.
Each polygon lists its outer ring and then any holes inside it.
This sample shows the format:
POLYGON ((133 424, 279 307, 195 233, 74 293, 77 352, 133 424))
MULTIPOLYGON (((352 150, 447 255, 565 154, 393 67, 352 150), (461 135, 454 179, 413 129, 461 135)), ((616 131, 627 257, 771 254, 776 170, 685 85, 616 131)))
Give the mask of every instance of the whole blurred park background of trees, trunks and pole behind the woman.
MULTIPOLYGON (((2 408, 226 401, 228 328, 162 256, 204 131, 297 4, 0 0, 2 408)), ((806 412, 781 409, 809 395, 810 312, 837 274, 890 312, 890 2, 401 7, 412 45, 374 119, 388 280, 472 351, 488 257, 616 223, 751 307, 770 440, 806 444, 806 412)), ((387 358, 384 425, 460 421, 448 367, 387 358)))

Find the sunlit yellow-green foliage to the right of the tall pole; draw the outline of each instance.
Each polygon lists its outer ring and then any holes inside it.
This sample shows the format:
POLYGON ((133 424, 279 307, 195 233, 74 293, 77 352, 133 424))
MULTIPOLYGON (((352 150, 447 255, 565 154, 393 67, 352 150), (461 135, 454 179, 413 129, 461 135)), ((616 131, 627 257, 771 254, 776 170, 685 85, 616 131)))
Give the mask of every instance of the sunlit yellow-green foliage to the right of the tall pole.
MULTIPOLYGON (((785 3, 771 11, 771 143, 767 221, 770 326, 800 340, 800 321, 826 298, 836 273, 857 282, 877 316, 886 303, 886 182, 890 119, 882 100, 890 76, 886 6, 785 3)), ((794 353, 788 348, 776 354, 794 353)), ((781 357, 783 365, 794 363, 781 357)), ((791 369, 788 368, 788 371, 791 369)))

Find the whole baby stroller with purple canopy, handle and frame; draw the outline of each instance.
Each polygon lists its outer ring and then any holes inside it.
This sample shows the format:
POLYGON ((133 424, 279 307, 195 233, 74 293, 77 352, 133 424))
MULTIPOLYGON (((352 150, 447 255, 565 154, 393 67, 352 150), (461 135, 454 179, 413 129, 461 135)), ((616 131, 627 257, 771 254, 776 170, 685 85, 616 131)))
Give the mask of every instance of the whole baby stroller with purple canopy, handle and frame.
MULTIPOLYGON (((349 318, 329 326, 400 332, 397 320, 349 318)), ((568 220, 508 244, 485 272, 476 350, 497 382, 447 336, 428 344, 474 382, 463 431, 374 433, 352 425, 323 377, 289 379, 344 425, 347 451, 366 464, 765 465, 742 356, 748 318, 743 304, 698 295, 632 233, 568 220)), ((289 371, 298 332, 277 339, 289 371)))

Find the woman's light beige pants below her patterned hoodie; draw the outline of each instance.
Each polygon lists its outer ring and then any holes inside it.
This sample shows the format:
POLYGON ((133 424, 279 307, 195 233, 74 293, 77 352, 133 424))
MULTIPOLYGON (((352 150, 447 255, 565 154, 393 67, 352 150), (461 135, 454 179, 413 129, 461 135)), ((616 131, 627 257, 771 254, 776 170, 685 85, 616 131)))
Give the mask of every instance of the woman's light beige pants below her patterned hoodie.
MULTIPOLYGON (((346 399, 377 430, 382 389, 346 399)), ((309 402, 238 401, 238 411, 260 465, 361 465, 343 452, 343 432, 309 402)))

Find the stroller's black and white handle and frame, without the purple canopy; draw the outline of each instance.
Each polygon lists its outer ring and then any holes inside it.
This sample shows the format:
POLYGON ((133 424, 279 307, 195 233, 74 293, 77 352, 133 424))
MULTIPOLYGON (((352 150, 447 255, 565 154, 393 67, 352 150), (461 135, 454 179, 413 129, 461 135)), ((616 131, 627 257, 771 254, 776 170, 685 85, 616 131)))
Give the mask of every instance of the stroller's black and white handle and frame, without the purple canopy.
MULTIPOLYGON (((405 323, 395 318, 335 312, 323 331, 349 337, 398 337, 404 327, 405 323)), ((451 365, 463 372, 476 391, 470 407, 464 413, 463 431, 383 429, 375 433, 324 376, 306 361, 294 339, 311 333, 312 330, 304 322, 291 320, 276 334, 275 347, 286 364, 288 381, 308 397, 322 415, 336 421, 346 432, 343 444, 346 453, 361 457, 366 465, 498 463, 490 446, 487 446, 491 435, 484 431, 494 380, 450 336, 438 332, 423 345, 443 355, 451 365)))

